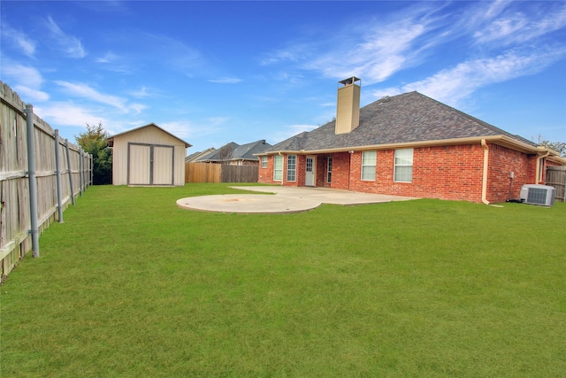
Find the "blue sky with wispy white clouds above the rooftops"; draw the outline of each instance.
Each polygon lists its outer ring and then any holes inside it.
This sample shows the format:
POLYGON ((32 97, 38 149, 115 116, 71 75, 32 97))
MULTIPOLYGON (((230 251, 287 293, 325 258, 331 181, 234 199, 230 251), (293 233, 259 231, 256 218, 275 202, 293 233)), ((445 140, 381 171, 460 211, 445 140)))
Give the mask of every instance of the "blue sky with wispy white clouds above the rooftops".
POLYGON ((566 142, 566 3, 14 2, 0 80, 74 142, 155 122, 193 144, 278 143, 417 90, 510 133, 566 142))

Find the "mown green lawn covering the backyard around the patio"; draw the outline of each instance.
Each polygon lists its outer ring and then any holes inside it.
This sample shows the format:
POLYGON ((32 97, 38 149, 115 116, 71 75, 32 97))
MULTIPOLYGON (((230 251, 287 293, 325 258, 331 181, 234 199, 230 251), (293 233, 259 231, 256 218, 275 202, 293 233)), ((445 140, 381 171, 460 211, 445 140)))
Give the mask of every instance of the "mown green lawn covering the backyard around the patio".
POLYGON ((0 287, 0 375, 564 376, 566 204, 175 204, 234 192, 88 189, 0 287))

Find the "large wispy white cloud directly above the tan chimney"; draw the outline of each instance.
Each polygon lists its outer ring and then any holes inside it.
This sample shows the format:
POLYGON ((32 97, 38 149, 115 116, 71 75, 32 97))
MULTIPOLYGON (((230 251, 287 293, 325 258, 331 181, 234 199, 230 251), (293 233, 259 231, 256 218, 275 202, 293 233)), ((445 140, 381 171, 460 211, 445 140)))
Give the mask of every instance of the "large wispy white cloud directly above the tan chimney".
POLYGON ((441 6, 419 4, 406 8, 389 19, 357 20, 337 27, 332 35, 316 42, 299 42, 287 49, 275 50, 262 65, 295 63, 326 77, 363 78, 365 84, 385 81, 394 73, 418 64, 426 50, 443 42, 450 33, 430 34, 449 22, 434 15, 441 6))

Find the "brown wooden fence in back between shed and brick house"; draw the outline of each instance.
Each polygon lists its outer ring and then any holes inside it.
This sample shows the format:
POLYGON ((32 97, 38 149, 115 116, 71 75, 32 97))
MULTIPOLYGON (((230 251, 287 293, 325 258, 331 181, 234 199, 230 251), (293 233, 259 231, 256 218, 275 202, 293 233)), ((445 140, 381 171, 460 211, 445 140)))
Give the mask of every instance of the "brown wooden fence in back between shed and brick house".
POLYGON ((185 163, 185 182, 257 182, 257 166, 185 163))

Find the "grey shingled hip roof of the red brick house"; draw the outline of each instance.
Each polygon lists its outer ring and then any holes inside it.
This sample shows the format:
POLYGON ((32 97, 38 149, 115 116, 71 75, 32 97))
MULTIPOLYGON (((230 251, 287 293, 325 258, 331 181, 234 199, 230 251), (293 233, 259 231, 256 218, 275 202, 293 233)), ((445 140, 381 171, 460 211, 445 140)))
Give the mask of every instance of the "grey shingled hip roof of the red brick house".
POLYGON ((395 145, 465 143, 499 138, 523 150, 537 150, 537 144, 512 135, 442 104, 418 92, 386 96, 360 109, 359 126, 347 134, 335 134, 335 120, 310 132, 302 132, 272 146, 278 151, 354 150, 395 145))

